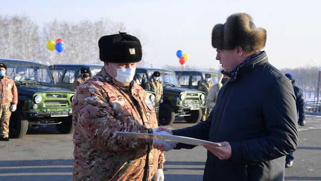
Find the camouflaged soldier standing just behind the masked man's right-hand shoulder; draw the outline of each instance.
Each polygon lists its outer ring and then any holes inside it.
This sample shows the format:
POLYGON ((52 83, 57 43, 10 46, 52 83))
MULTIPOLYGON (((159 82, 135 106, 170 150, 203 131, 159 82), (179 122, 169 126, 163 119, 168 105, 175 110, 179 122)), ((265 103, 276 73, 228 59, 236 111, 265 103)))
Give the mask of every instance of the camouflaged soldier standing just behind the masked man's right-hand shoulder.
POLYGON ((161 76, 161 73, 158 71, 155 71, 149 78, 147 88, 146 88, 147 91, 155 92, 155 108, 156 108, 157 120, 159 118, 160 103, 163 102, 163 83, 160 79, 160 76, 161 76))

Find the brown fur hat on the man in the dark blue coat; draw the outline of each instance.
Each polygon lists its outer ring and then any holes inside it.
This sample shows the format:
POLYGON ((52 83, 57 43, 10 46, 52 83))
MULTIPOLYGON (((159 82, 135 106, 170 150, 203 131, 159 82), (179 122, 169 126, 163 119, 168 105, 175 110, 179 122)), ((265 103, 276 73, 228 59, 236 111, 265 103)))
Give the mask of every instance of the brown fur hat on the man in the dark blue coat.
POLYGON ((231 50, 237 45, 247 52, 256 52, 265 46, 266 30, 256 28, 246 13, 232 14, 224 25, 217 24, 212 31, 212 46, 231 50))

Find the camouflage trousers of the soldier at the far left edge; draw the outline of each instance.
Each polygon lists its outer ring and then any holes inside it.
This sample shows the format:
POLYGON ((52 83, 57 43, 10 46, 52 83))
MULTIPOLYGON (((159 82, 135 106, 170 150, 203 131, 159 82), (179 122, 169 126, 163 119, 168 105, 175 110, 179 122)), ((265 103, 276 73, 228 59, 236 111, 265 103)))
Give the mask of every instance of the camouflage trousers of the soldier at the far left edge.
POLYGON ((9 138, 9 121, 11 111, 9 107, 0 108, 0 138, 9 138))

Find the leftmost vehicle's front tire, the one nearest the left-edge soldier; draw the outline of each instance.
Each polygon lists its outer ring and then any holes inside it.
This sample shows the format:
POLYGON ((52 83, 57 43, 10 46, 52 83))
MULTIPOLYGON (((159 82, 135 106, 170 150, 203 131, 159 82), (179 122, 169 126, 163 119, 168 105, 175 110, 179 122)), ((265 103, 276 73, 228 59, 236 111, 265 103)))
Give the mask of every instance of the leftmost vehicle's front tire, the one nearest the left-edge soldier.
POLYGON ((28 120, 23 119, 18 114, 13 114, 9 123, 9 137, 22 138, 27 134, 28 120))

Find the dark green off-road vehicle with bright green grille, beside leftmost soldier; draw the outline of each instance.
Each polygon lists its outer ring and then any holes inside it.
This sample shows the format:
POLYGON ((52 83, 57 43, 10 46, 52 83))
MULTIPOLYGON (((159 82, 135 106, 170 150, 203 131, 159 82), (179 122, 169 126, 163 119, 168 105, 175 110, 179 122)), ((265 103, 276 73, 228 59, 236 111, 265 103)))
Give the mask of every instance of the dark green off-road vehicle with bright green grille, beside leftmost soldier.
POLYGON ((73 131, 71 102, 74 93, 55 87, 48 67, 31 61, 0 59, 7 66, 6 75, 18 89, 17 110, 12 112, 9 136, 21 138, 28 126, 55 124, 58 131, 73 131))

